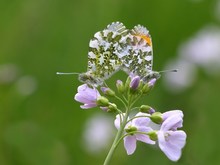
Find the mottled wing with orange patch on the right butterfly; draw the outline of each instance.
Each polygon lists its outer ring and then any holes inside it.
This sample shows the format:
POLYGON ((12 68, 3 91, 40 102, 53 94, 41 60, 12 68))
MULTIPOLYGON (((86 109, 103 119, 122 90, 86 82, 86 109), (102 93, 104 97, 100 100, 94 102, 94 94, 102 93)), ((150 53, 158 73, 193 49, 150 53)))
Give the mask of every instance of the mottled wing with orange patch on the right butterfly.
POLYGON ((152 71, 153 48, 149 31, 141 26, 135 26, 127 36, 130 54, 123 58, 123 70, 145 77, 152 71))

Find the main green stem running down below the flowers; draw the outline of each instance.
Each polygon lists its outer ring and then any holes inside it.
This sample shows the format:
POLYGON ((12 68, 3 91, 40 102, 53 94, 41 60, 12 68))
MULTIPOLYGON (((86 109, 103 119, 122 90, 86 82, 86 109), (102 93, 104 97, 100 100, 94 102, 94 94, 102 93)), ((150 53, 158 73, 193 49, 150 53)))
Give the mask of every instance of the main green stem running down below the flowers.
POLYGON ((112 146, 111 146, 111 148, 110 148, 110 150, 109 150, 109 152, 108 152, 108 155, 107 155, 106 158, 105 158, 105 162, 104 162, 103 165, 109 165, 109 163, 110 163, 110 161, 111 161, 111 158, 112 158, 112 156, 113 156, 113 154, 114 154, 114 151, 115 151, 115 149, 116 149, 117 146, 118 146, 118 141, 119 141, 119 139, 121 138, 121 136, 122 136, 122 134, 123 134, 125 125, 126 125, 126 123, 127 123, 128 115, 129 115, 129 109, 127 108, 127 109, 126 109, 125 116, 122 118, 121 126, 120 126, 120 128, 119 128, 119 130, 118 130, 118 132, 117 132, 117 134, 116 134, 116 136, 115 136, 115 139, 114 139, 114 141, 113 141, 113 143, 112 143, 112 146))

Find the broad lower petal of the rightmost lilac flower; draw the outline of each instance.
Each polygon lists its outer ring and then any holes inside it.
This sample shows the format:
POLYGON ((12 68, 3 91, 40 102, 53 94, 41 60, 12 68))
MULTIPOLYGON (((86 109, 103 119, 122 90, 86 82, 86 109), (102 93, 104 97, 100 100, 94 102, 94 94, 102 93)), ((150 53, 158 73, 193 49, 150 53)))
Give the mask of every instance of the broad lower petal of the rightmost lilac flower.
POLYGON ((166 134, 158 131, 158 142, 160 149, 172 161, 179 160, 182 148, 186 143, 186 133, 184 131, 168 131, 166 134), (168 136, 168 137, 165 137, 168 136))

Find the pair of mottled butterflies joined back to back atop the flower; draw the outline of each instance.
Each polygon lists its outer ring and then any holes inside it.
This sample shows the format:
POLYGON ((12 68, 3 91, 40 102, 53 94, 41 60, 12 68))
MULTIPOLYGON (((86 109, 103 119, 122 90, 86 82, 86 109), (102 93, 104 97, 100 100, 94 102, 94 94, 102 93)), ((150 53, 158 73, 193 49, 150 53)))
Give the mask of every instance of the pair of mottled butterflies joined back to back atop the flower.
POLYGON ((151 78, 160 77, 159 72, 152 71, 152 65, 153 48, 149 31, 141 25, 128 30, 122 23, 113 22, 90 40, 87 72, 79 74, 79 80, 97 87, 123 70, 148 82, 151 78))

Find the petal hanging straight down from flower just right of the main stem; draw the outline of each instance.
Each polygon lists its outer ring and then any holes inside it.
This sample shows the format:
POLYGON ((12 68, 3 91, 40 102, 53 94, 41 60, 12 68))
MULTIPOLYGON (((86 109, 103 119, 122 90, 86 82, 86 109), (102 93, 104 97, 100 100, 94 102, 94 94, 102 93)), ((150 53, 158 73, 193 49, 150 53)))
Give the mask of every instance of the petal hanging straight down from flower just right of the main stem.
POLYGON ((124 138, 124 146, 128 155, 131 155, 136 150, 136 138, 135 136, 126 136, 124 138))

